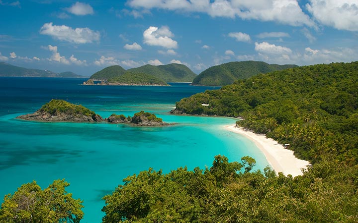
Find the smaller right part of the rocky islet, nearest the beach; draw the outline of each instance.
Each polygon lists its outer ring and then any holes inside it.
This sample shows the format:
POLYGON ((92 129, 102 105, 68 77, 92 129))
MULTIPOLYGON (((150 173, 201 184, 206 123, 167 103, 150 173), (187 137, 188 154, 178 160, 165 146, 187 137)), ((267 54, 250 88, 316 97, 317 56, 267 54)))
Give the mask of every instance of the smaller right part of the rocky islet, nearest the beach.
POLYGON ((123 114, 112 114, 105 119, 109 123, 130 123, 137 126, 164 126, 171 125, 171 123, 163 122, 162 118, 157 117, 150 112, 140 111, 133 115, 133 117, 125 117, 123 114))

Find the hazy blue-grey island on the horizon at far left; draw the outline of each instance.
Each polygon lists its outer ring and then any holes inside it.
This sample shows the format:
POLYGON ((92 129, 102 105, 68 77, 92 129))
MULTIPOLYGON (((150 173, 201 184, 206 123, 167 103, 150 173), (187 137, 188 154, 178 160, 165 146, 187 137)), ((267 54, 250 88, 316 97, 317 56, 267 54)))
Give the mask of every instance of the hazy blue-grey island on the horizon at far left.
POLYGON ((0 62, 1 77, 68 77, 68 78, 85 78, 74 72, 55 73, 50 70, 28 69, 24 67, 14 66, 9 63, 0 62))

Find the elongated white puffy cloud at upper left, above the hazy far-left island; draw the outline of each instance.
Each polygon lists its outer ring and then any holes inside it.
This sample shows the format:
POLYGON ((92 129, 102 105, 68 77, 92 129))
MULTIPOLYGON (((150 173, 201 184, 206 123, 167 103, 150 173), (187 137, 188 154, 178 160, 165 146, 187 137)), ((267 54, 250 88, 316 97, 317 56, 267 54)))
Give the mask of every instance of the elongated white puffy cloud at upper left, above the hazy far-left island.
POLYGON ((92 43, 99 41, 100 38, 98 31, 93 31, 89 28, 73 29, 65 25, 57 26, 52 25, 52 22, 45 23, 40 29, 40 34, 49 35, 54 39, 76 44, 92 43))

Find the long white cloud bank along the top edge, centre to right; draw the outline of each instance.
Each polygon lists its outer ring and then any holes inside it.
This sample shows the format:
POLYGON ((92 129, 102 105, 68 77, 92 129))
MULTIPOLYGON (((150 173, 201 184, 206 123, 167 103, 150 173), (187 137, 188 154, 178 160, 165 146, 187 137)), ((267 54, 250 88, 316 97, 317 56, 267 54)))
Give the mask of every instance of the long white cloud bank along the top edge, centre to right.
POLYGON ((239 17, 292 26, 315 26, 297 0, 128 0, 127 3, 135 8, 160 8, 207 13, 212 17, 239 17))

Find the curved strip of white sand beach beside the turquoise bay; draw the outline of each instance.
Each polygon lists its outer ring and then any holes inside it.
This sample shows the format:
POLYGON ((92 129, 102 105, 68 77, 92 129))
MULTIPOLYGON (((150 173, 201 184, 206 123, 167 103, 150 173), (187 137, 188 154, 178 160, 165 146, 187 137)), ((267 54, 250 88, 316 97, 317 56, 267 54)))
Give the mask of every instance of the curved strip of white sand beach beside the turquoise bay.
POLYGON ((285 149, 283 145, 267 138, 265 135, 258 135, 235 125, 226 126, 232 132, 239 133, 253 142, 264 153, 267 161, 276 173, 282 172, 284 175, 291 174, 293 177, 302 175, 301 169, 306 169, 310 164, 308 161, 300 160, 293 155, 292 150, 285 149))

